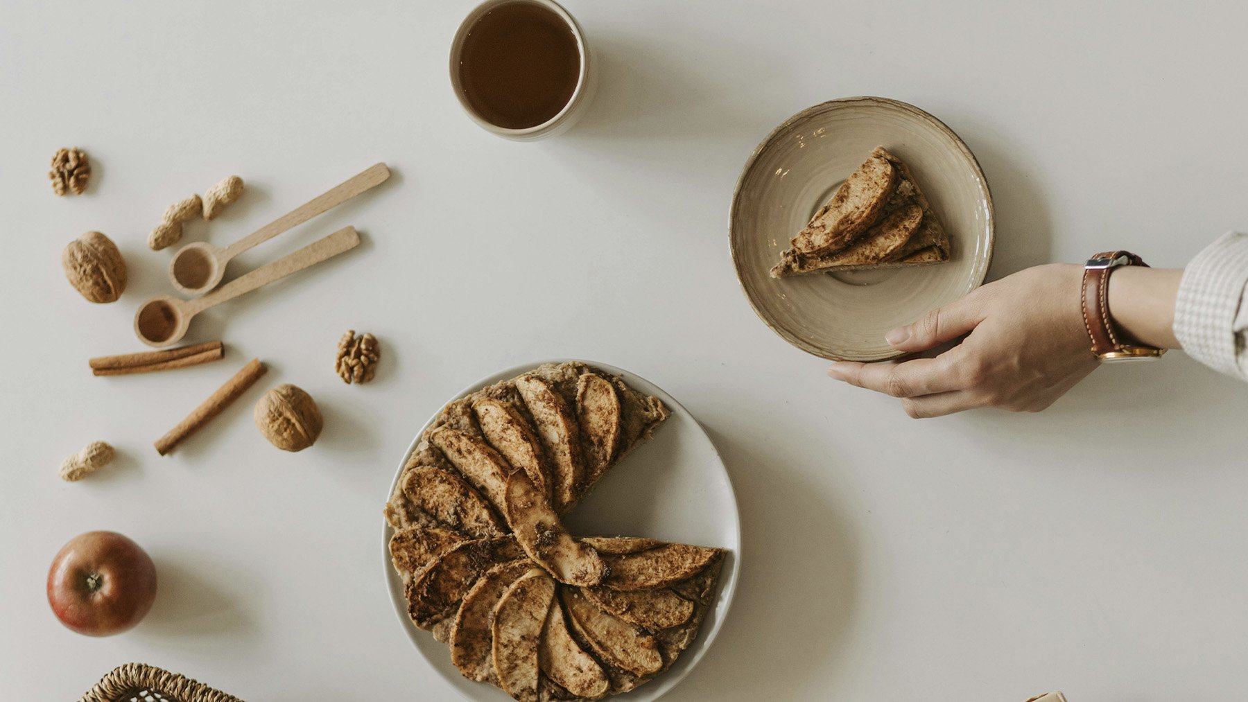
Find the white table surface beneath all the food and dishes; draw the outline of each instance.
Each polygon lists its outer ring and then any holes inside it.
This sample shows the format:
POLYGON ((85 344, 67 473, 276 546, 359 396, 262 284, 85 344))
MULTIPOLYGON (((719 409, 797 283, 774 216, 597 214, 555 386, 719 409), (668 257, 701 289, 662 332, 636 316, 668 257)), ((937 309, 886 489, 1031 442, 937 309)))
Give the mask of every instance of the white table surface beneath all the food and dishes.
POLYGON ((729 198, 776 123, 832 97, 912 102, 992 186, 991 277, 1124 247, 1182 266, 1248 227, 1244 5, 569 0, 602 59, 584 121, 510 143, 466 118, 447 52, 469 1, 0 5, 0 690, 70 700, 127 661, 247 700, 452 700, 394 618, 381 506, 464 384, 547 357, 679 398, 724 454, 736 602, 674 700, 1227 700, 1248 695, 1248 388, 1181 353, 1104 368, 1040 415, 915 421, 773 334, 728 252, 729 198), (1038 4, 1037 4, 1038 5, 1038 4), (94 175, 57 198, 52 152, 94 175), (187 239, 228 242, 376 161, 392 181, 248 256, 344 224, 361 251, 198 319, 227 360, 92 378, 165 292, 165 206, 238 173, 187 239), (131 282, 84 302, 59 257, 99 229, 131 282), (331 372, 347 328, 377 380, 331 372), (151 441, 247 359, 319 403, 301 454, 253 389, 173 455, 151 441), (65 484, 92 439, 120 459, 65 484), (112 529, 160 569, 146 621, 61 627, 44 579, 112 529))

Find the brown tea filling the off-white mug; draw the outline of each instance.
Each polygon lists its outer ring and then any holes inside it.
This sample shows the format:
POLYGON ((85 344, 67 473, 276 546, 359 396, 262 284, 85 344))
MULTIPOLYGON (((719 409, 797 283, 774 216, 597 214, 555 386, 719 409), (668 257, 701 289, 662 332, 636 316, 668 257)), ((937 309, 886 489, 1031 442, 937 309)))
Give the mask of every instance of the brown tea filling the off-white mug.
POLYGON ((580 50, 563 17, 524 0, 485 12, 459 52, 459 85, 468 105, 487 122, 535 127, 572 100, 580 75, 580 50))

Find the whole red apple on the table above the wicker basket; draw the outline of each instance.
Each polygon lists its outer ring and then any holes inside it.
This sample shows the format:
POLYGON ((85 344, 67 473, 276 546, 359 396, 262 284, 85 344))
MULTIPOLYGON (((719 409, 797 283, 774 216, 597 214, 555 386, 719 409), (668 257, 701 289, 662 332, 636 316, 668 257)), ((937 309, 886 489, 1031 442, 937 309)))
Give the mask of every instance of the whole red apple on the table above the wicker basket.
POLYGON ((116 531, 87 531, 66 544, 47 571, 47 603, 61 623, 87 636, 121 633, 156 601, 156 566, 116 531))

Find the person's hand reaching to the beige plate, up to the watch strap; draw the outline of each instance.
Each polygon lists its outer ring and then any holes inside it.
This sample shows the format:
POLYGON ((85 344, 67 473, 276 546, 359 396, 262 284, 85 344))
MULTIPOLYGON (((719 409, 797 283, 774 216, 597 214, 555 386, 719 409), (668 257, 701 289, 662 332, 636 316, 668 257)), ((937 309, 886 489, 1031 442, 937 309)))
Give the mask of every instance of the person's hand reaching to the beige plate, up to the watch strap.
POLYGON ((1037 266, 889 332, 897 350, 919 353, 967 334, 935 358, 834 363, 827 374, 902 398, 914 418, 978 406, 1040 411, 1097 367, 1083 327, 1083 268, 1037 266))

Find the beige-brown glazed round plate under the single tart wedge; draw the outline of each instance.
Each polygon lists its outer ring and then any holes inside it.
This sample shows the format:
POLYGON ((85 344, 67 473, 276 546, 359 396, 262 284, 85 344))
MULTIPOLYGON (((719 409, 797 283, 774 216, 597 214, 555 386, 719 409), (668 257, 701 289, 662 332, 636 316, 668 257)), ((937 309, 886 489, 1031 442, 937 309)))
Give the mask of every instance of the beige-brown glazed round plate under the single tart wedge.
POLYGON ((900 355, 894 327, 973 291, 992 258, 992 196, 978 162, 940 120, 885 97, 802 110, 754 150, 729 216, 736 276, 759 317, 790 344, 836 360, 900 355), (946 263, 771 278, 815 211, 876 146, 905 161, 952 239, 946 263))

